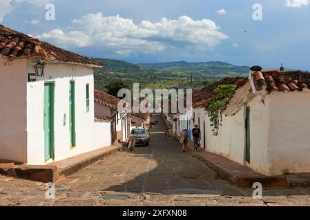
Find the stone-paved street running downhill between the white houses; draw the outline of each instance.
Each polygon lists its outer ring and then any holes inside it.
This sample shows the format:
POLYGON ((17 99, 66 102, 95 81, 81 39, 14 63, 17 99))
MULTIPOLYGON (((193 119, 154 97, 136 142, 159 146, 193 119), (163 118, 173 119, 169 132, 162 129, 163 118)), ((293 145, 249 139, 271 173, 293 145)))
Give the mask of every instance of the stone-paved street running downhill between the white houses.
POLYGON ((55 199, 35 181, 0 176, 0 206, 310 206, 310 188, 253 190, 217 179, 202 162, 183 153, 162 134, 151 131, 151 144, 126 149, 56 184, 55 199))

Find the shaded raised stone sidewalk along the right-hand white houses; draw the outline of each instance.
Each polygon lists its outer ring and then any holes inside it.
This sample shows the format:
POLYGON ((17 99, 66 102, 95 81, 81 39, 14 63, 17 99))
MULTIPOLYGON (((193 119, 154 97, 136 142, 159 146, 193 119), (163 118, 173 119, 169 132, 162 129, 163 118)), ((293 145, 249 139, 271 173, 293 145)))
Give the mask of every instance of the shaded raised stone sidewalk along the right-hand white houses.
MULTIPOLYGON (((179 137, 171 135, 176 141, 179 137)), ((193 142, 188 142, 189 146, 193 146, 193 142)), ((199 148, 198 152, 193 151, 193 147, 187 146, 186 150, 188 153, 200 159, 204 164, 209 166, 213 172, 216 173, 217 177, 229 181, 229 183, 241 187, 241 188, 252 188, 255 182, 259 182, 263 187, 287 187, 289 181, 287 176, 267 176, 252 170, 248 166, 244 166, 237 162, 232 161, 221 155, 210 153, 199 148)), ((310 175, 309 175, 310 177, 310 175)))

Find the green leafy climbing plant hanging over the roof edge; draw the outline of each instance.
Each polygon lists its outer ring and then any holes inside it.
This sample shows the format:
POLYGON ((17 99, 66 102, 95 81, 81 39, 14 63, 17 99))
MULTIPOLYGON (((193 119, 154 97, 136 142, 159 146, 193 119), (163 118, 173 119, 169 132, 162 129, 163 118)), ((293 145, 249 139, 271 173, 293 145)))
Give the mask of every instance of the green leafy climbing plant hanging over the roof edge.
POLYGON ((211 101, 208 107, 206 107, 206 112, 210 118, 211 126, 213 127, 213 135, 218 135, 218 130, 222 126, 222 109, 226 107, 231 96, 237 88, 236 85, 219 85, 214 89, 215 95, 214 100, 211 101))

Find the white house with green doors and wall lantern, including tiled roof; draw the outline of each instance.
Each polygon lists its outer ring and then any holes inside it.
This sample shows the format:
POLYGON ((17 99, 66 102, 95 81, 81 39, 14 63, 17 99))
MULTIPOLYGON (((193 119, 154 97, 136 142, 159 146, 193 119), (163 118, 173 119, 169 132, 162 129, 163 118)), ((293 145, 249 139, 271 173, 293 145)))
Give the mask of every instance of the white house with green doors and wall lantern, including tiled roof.
POLYGON ((0 25, 0 159, 48 164, 110 145, 94 122, 103 64, 0 25))

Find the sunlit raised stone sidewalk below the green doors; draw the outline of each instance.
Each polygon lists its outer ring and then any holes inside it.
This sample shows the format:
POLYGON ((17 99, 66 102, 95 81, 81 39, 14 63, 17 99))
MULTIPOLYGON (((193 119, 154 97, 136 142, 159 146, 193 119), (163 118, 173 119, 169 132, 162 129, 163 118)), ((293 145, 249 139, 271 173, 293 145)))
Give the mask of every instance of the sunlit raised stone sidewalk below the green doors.
POLYGON ((106 146, 95 151, 82 153, 74 157, 60 160, 59 162, 52 162, 51 164, 41 166, 27 164, 20 165, 14 162, 1 163, 0 175, 19 177, 45 183, 54 183, 83 170, 100 159, 120 151, 121 148, 122 144, 117 143, 113 146, 106 146))

